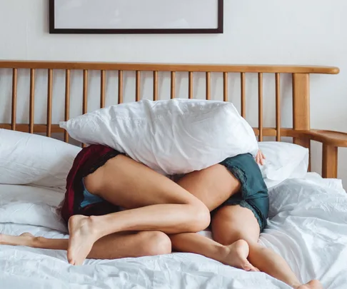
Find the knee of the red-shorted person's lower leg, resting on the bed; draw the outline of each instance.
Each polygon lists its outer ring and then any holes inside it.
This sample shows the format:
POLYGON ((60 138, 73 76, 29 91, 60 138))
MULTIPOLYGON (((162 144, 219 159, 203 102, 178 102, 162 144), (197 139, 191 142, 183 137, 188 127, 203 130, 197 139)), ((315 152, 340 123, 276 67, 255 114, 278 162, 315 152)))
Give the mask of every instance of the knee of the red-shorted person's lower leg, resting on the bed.
POLYGON ((165 255, 171 253, 171 240, 168 235, 161 231, 140 232, 144 235, 146 242, 144 243, 144 255, 165 255))

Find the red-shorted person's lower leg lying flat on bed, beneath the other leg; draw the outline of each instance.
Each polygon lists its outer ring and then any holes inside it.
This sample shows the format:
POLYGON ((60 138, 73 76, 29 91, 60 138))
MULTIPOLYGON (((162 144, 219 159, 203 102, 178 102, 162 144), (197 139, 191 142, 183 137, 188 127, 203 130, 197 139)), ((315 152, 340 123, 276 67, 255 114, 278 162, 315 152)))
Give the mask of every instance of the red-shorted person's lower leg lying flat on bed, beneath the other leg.
MULTIPOLYGON (((30 233, 20 236, 0 235, 0 245, 24 245, 31 248, 67 250, 69 239, 34 237, 30 233)), ((171 241, 165 233, 159 231, 126 232, 107 235, 97 240, 88 258, 136 258, 169 253, 171 253, 171 241), (105 248, 107 249, 105 250, 105 248)))

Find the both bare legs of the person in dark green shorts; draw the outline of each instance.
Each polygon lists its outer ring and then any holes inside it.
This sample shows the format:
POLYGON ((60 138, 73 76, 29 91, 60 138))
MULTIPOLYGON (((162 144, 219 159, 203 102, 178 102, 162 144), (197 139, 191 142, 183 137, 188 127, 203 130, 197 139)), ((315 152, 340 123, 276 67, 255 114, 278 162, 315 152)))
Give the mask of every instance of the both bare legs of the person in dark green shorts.
MULTIPOLYGON (((241 186, 221 165, 190 173, 178 181, 178 184, 203 201, 209 211, 218 208, 227 198, 238 193, 241 186)), ((302 285, 280 255, 258 245, 258 220, 248 208, 219 208, 213 214, 211 228, 214 240, 196 233, 181 233, 170 235, 172 245, 181 252, 198 253, 244 270, 258 268, 293 288, 322 289, 318 280, 302 285)))

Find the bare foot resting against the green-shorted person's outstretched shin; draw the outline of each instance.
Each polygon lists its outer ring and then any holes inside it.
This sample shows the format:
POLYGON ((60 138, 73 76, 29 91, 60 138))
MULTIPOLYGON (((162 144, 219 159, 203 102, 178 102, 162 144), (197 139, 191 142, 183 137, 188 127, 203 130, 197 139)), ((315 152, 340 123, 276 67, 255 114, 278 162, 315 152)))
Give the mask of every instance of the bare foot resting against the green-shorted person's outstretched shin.
POLYGON ((238 240, 235 243, 232 243, 231 245, 228 245, 226 247, 228 248, 228 254, 224 259, 224 264, 246 271, 259 271, 247 260, 249 246, 245 240, 238 240))

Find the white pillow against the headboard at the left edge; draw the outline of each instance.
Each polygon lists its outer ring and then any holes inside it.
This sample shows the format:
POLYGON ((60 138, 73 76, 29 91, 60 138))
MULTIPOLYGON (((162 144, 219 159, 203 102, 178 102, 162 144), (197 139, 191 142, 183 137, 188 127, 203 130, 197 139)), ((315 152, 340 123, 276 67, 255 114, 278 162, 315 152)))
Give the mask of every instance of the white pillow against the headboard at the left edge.
POLYGON ((46 136, 0 130, 0 183, 66 186, 81 148, 46 136))

